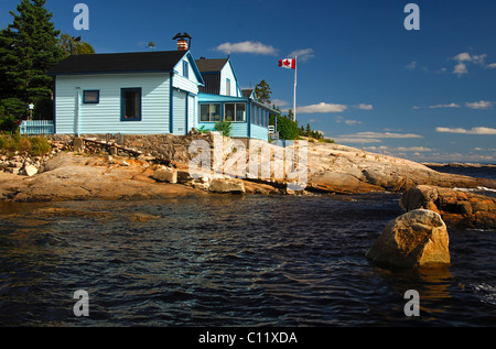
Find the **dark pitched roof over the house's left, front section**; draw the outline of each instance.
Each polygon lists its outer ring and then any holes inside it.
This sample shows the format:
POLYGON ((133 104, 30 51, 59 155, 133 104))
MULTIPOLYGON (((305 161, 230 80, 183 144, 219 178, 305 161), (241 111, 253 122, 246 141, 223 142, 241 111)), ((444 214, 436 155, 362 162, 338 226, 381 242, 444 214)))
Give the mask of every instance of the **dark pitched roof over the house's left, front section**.
POLYGON ((68 56, 48 75, 98 74, 122 72, 172 72, 186 52, 136 52, 68 56))

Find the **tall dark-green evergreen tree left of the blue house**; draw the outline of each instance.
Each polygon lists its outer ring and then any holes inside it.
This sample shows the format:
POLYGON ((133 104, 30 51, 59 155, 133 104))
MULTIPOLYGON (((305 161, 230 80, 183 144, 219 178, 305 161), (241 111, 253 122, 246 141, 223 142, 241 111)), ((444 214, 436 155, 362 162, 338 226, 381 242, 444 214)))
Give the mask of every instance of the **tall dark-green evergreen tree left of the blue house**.
POLYGON ((51 97, 53 79, 46 72, 64 57, 45 2, 21 0, 19 14, 10 11, 13 22, 0 31, 0 100, 17 118, 30 102, 51 97))

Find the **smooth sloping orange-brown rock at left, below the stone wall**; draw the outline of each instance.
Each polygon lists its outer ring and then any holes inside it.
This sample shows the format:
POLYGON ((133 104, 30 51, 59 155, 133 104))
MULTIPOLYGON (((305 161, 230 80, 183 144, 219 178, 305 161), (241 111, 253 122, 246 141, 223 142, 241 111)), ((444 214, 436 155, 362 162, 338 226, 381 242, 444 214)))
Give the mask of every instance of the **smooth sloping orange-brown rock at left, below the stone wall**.
POLYGON ((204 192, 152 178, 154 170, 136 160, 77 156, 61 153, 47 161, 42 173, 22 177, 0 173, 0 199, 63 201, 89 199, 150 199, 204 192), (126 161, 127 165, 123 165, 126 161))

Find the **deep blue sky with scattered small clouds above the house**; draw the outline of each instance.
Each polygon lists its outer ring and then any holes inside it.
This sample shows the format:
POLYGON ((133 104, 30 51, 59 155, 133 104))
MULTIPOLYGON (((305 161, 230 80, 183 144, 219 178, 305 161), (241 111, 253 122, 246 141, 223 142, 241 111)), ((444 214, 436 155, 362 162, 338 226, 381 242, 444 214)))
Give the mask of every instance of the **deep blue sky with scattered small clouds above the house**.
MULTIPOLYGON (((17 0, 0 0, 0 25, 17 0)), ((97 53, 175 50, 193 36, 195 57, 230 54, 241 88, 266 79, 281 109, 292 108, 299 52, 300 124, 338 143, 434 162, 496 163, 496 2, 493 0, 106 1, 48 0, 63 33, 97 53), (89 30, 73 26, 76 3, 89 30), (420 9, 408 31, 405 7, 420 9)))

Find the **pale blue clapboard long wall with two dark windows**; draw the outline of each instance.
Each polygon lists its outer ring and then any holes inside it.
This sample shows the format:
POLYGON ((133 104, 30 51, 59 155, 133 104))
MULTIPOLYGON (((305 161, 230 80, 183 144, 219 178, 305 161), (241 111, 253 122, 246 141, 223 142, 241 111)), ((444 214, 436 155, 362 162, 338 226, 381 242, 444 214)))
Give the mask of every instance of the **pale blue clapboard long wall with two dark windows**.
POLYGON ((137 73, 56 77, 56 132, 169 133, 170 74, 137 73), (121 121, 121 89, 141 88, 141 121, 121 121), (84 90, 99 90, 99 103, 83 103, 84 90))

